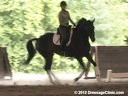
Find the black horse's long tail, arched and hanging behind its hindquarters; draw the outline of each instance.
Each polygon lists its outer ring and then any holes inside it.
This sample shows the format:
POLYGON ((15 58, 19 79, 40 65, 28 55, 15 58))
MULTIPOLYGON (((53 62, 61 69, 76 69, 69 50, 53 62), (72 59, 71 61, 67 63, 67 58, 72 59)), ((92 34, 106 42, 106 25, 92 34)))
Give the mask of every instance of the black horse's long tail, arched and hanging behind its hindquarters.
POLYGON ((27 42, 27 51, 28 51, 28 58, 25 61, 25 64, 29 64, 29 62, 32 60, 32 58, 35 56, 36 54, 36 49, 34 48, 34 45, 32 44, 33 41, 37 41, 37 38, 31 39, 27 42))

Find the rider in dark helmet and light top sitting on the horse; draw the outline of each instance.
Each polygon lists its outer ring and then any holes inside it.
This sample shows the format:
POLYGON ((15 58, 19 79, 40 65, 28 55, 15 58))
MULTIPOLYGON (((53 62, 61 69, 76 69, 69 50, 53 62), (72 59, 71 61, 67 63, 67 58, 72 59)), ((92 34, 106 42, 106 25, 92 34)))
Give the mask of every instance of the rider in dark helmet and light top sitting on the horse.
POLYGON ((69 21, 74 25, 75 23, 72 21, 69 12, 66 10, 67 3, 65 1, 62 1, 60 3, 61 11, 59 12, 59 32, 61 36, 61 46, 62 50, 65 51, 66 43, 68 42, 68 39, 70 37, 70 29, 71 26, 69 26, 69 21))

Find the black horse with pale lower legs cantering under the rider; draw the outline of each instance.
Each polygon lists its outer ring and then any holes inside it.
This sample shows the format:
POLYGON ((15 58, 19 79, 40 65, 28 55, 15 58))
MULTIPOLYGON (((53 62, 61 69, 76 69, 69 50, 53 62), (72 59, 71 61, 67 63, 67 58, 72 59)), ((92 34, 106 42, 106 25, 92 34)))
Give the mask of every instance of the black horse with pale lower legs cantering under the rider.
POLYGON ((82 75, 87 72, 87 68, 84 65, 82 60, 83 57, 86 57, 89 62, 91 62, 96 68, 96 63, 92 59, 90 54, 90 43, 89 37, 92 42, 95 41, 95 32, 93 22, 95 20, 86 20, 84 18, 80 19, 76 28, 73 31, 71 44, 66 47, 65 53, 62 51, 62 47, 55 45, 53 43, 53 33, 46 33, 40 38, 34 38, 28 41, 27 50, 28 58, 26 63, 28 64, 34 57, 36 50, 44 57, 45 59, 45 70, 49 76, 49 79, 54 83, 53 79, 57 80, 56 76, 51 71, 51 65, 53 60, 54 53, 59 55, 64 55, 66 57, 74 57, 80 63, 83 71, 82 73, 75 78, 75 81, 79 80, 82 75), (35 47, 32 44, 32 41, 36 41, 35 47))

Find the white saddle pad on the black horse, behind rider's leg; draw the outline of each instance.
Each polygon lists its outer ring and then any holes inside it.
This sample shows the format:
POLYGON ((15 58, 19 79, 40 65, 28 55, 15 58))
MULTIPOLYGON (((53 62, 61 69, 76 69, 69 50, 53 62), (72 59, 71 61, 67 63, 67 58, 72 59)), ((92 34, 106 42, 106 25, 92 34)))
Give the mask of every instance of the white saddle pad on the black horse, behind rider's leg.
MULTIPOLYGON (((73 32, 71 31, 70 38, 69 38, 69 41, 67 42, 66 46, 69 46, 70 45, 71 39, 72 39, 72 34, 73 34, 73 32)), ((56 33, 53 35, 53 43, 55 45, 61 45, 61 43, 60 43, 60 35, 58 35, 56 33)))

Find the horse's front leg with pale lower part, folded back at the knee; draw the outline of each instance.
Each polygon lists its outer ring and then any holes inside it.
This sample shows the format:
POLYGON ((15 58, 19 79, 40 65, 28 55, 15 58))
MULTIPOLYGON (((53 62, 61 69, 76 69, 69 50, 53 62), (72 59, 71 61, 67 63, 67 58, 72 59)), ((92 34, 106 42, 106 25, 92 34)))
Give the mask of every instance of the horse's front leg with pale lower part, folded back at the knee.
POLYGON ((79 75, 77 78, 74 79, 75 82, 78 81, 78 80, 83 76, 84 73, 85 73, 85 75, 87 76, 87 69, 86 69, 86 67, 85 67, 85 65, 84 65, 84 62, 83 62, 83 60, 82 60, 82 57, 81 57, 81 58, 80 58, 80 57, 77 57, 76 59, 77 59, 77 61, 80 63, 80 65, 81 65, 83 71, 80 73, 80 75, 79 75))

